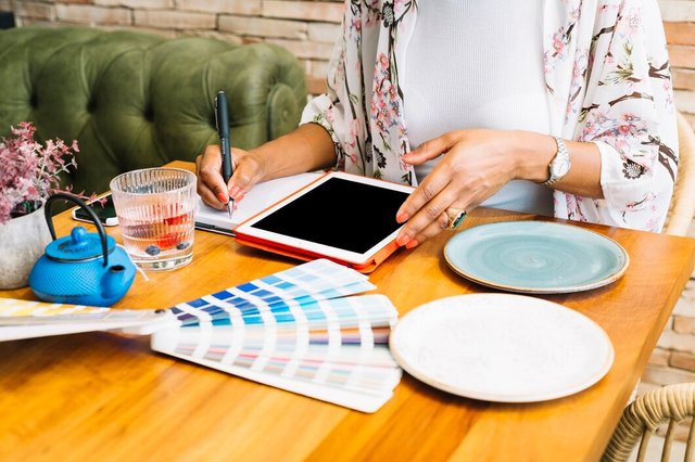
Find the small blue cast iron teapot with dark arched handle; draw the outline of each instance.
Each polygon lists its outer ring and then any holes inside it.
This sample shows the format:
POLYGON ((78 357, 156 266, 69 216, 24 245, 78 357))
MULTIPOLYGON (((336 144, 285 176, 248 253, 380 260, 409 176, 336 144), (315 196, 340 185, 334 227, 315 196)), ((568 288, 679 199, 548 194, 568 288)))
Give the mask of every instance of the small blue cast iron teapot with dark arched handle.
POLYGON ((45 206, 53 242, 29 274, 29 286, 43 301, 108 307, 118 301, 135 279, 135 264, 123 247, 106 234, 94 211, 78 197, 56 193, 45 206), (55 239, 51 205, 56 200, 76 203, 85 209, 99 233, 75 227, 67 236, 55 239))

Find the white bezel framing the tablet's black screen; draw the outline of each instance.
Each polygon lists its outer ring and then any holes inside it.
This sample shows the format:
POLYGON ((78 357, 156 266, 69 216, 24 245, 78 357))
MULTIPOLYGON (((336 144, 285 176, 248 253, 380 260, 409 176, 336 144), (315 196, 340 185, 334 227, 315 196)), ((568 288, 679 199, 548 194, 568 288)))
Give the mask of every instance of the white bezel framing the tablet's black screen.
POLYGON ((256 222, 258 222, 260 220, 262 220, 265 217, 274 214, 276 210, 282 208, 285 205, 295 201, 298 197, 301 197, 304 194, 306 194, 307 192, 318 188, 319 185, 324 184, 326 181, 328 181, 331 178, 341 178, 341 179, 345 179, 345 180, 357 182, 357 183, 365 183, 365 184, 376 185, 376 187, 379 187, 379 188, 393 190, 393 191, 401 191, 401 192, 405 192, 405 193, 412 193, 415 190, 415 188, 409 187, 409 185, 405 185, 405 184, 393 183, 393 182, 384 181, 384 180, 377 180, 377 179, 374 179, 374 178, 361 177, 358 175, 345 174, 343 171, 330 171, 330 172, 326 174, 324 177, 321 177, 318 180, 314 181, 313 183, 309 183, 304 189, 298 191, 294 194, 291 194, 290 196, 286 197, 285 200, 282 200, 282 201, 278 202, 277 204, 268 207, 264 211, 262 211, 262 213, 251 217, 247 221, 240 223, 235 229, 236 233, 237 234, 242 234, 241 238, 249 236, 249 238, 257 239, 257 240, 260 240, 262 242, 265 242, 265 243, 268 243, 270 245, 291 247, 291 248, 295 249, 300 254, 315 254, 315 255, 320 255, 320 256, 325 256, 327 258, 333 258, 333 259, 342 260, 342 261, 345 261, 345 262, 349 262, 349 264, 354 264, 354 265, 363 265, 363 264, 369 261, 369 259, 372 258, 379 251, 381 251, 390 242, 395 240, 396 234, 399 233, 401 228, 403 228, 402 226, 399 227, 392 233, 390 233, 388 236, 383 238, 381 241, 379 241, 376 245, 374 245, 371 248, 369 248, 364 254, 359 254, 359 253, 351 252, 351 251, 345 251, 345 249, 339 248, 339 247, 332 247, 332 246, 325 245, 325 244, 318 244, 318 243, 315 243, 315 242, 312 242, 312 241, 305 241, 305 240, 302 240, 302 239, 296 239, 296 238, 288 236, 288 235, 285 235, 285 234, 279 234, 279 233, 276 233, 276 232, 253 228, 253 226, 256 222))

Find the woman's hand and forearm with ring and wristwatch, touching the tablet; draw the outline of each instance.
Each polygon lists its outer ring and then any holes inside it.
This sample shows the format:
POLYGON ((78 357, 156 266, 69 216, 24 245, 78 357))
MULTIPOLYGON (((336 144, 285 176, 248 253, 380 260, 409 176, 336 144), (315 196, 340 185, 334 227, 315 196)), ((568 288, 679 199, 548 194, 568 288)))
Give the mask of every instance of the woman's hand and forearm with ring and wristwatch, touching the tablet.
MULTIPOLYGON (((569 140, 565 144, 572 166, 552 188, 602 198, 596 144, 569 140)), ((396 220, 407 223, 396 242, 415 247, 448 228, 458 211, 472 210, 511 180, 547 180, 548 164, 556 153, 553 137, 522 130, 450 131, 422 143, 401 158, 412 165, 444 158, 399 209, 396 220)))

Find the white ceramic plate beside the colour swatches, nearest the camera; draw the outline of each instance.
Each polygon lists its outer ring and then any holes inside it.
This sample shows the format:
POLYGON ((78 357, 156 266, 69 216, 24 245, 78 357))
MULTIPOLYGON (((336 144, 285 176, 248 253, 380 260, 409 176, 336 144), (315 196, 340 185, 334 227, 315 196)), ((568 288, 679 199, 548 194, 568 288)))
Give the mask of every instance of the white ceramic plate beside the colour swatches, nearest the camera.
POLYGON ((391 352, 416 378, 444 392, 500 402, 533 402, 581 392, 612 364, 604 330, 541 298, 471 294, 406 313, 391 352))

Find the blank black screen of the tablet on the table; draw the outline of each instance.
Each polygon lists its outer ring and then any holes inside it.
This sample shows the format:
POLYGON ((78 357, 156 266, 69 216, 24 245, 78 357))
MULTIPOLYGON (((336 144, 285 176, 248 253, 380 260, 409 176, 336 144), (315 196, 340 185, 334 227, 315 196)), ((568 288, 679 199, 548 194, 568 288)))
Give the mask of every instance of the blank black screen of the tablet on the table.
POLYGON ((409 192, 330 178, 251 228, 364 254, 401 226, 409 192))

